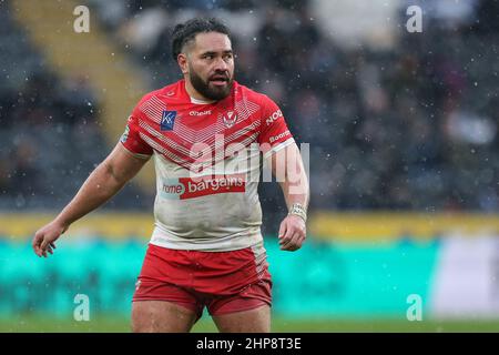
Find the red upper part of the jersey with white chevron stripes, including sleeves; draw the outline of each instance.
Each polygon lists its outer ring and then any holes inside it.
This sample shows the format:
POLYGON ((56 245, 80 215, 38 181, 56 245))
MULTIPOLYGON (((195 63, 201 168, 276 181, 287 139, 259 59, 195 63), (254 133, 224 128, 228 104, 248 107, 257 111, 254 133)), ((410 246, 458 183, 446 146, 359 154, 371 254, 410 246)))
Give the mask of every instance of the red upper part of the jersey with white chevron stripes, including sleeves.
POLYGON ((230 97, 196 105, 191 103, 184 85, 181 80, 141 100, 132 113, 134 120, 129 122, 125 148, 135 153, 151 153, 147 148, 154 149, 165 159, 191 169, 232 156, 237 150, 230 146, 233 143, 247 148, 257 142, 268 151, 291 138, 278 106, 263 94, 234 82, 230 97), (161 130, 165 110, 176 114, 167 131, 161 130))

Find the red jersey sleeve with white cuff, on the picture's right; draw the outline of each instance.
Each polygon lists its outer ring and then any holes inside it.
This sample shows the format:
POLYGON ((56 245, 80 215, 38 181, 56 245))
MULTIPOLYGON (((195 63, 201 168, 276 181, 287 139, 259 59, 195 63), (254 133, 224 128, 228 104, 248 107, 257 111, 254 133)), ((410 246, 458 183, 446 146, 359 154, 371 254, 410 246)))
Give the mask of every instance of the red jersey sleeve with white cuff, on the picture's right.
POLYGON ((264 158, 269 156, 273 152, 293 144, 295 140, 291 134, 283 112, 277 104, 264 95, 262 101, 262 122, 258 143, 264 158))

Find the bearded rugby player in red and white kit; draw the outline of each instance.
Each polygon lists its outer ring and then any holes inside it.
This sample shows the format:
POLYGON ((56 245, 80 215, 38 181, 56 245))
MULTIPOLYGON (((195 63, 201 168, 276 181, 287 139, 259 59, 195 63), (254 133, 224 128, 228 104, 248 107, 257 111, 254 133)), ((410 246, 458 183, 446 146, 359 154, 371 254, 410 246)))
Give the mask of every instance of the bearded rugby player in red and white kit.
POLYGON ((183 79, 145 94, 120 142, 32 241, 47 257, 77 220, 153 158, 155 227, 135 284, 133 332, 190 332, 207 308, 221 332, 269 332, 272 278, 261 233, 265 161, 282 186, 283 251, 306 237, 308 180, 279 108, 234 80, 226 26, 195 18, 173 30, 183 79), (279 176, 282 179, 279 179, 279 176))

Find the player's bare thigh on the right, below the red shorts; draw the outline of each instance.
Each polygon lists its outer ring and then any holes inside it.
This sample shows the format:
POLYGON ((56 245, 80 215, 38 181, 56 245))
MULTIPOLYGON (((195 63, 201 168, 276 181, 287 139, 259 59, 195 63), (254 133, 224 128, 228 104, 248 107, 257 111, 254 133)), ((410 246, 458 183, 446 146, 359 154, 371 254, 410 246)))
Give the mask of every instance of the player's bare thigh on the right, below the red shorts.
POLYGON ((269 333, 271 307, 262 305, 249 311, 213 315, 216 327, 222 333, 269 333))

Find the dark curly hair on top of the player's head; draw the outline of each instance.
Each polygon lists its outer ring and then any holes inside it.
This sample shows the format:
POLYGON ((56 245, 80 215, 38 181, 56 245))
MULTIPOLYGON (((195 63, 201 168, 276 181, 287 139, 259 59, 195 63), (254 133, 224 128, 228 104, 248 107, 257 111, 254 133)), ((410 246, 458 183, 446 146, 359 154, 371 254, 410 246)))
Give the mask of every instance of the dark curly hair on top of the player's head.
POLYGON ((194 40, 197 33, 218 32, 231 39, 228 28, 215 18, 194 18, 175 26, 172 32, 172 57, 176 61, 184 45, 194 40))

